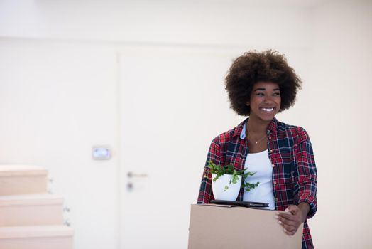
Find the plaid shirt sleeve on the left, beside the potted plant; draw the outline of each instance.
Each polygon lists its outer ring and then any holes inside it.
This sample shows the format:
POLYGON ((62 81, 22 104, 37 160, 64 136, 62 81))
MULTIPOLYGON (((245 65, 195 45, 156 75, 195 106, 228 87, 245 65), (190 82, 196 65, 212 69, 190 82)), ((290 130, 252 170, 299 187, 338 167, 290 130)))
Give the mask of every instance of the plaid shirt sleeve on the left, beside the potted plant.
POLYGON ((212 174, 208 171, 208 161, 212 160, 214 164, 220 164, 221 150, 219 144, 219 137, 213 139, 209 147, 207 161, 204 165, 202 182, 200 184, 199 196, 197 198, 198 204, 207 204, 214 199, 212 194, 212 174))

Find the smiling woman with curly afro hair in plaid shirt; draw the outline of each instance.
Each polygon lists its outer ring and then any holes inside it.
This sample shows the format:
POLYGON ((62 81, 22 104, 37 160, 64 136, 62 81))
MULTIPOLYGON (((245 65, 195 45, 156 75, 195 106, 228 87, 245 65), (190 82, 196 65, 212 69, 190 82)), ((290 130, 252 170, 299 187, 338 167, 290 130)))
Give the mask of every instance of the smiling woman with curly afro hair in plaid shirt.
MULTIPOLYGON (((307 218, 317 211, 317 169, 305 129, 276 120, 275 115, 295 102, 301 80, 284 55, 276 51, 251 51, 237 58, 226 76, 231 108, 249 116, 234 129, 219 134, 209 148, 207 162, 256 172, 260 184, 241 189, 238 201, 269 203, 285 211, 275 218, 288 235, 304 223, 302 248, 314 248, 307 218)), ((212 200, 211 176, 204 168, 197 203, 212 200)), ((248 181, 256 182, 253 177, 248 181)))

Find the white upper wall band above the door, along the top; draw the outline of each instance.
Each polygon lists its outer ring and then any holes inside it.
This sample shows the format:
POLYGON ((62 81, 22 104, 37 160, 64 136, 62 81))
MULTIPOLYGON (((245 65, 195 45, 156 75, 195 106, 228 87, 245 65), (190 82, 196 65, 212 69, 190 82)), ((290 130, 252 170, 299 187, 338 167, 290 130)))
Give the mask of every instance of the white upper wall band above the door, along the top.
MULTIPOLYGON (((254 1, 253 1, 254 2, 254 1)), ((8 37, 304 47, 310 12, 245 1, 0 1, 8 37), (20 4, 21 3, 21 4, 20 4), (283 36, 285 34, 285 36, 283 36)))

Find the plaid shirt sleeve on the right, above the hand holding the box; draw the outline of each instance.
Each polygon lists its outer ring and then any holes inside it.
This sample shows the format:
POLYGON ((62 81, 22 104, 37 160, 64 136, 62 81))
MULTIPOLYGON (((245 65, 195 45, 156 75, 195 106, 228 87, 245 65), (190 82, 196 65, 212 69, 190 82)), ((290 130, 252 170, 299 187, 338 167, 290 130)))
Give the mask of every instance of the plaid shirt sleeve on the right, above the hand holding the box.
POLYGON ((295 170, 295 204, 308 203, 310 211, 307 214, 307 218, 312 218, 317 212, 317 168, 314 152, 305 129, 299 127, 297 139, 297 151, 295 152, 297 161, 295 170))

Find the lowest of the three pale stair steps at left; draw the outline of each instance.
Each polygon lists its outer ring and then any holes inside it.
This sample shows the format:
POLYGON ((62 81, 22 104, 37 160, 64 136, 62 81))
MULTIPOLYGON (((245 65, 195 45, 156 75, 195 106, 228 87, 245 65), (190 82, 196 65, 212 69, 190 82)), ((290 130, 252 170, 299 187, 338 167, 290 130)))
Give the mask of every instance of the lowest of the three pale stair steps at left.
POLYGON ((73 235, 67 226, 0 227, 0 248, 72 249, 73 235))

